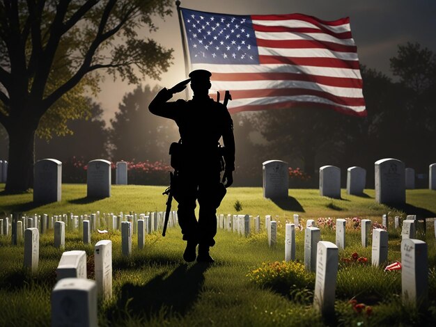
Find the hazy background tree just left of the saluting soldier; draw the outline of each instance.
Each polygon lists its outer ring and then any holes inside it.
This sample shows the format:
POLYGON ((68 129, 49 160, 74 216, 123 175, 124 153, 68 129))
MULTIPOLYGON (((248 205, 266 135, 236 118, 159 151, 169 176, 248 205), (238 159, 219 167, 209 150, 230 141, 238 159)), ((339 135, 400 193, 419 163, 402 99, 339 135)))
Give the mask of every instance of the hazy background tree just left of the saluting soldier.
POLYGON ((176 124, 148 111, 159 87, 138 86, 123 97, 111 119, 109 142, 114 161, 168 161, 169 145, 178 141, 176 124))

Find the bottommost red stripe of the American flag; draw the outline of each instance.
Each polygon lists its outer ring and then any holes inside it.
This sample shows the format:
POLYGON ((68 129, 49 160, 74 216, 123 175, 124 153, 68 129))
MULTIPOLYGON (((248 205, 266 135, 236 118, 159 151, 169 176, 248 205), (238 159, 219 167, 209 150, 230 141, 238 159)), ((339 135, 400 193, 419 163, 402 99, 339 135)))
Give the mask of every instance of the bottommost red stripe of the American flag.
POLYGON ((260 104, 254 106, 238 106, 235 108, 228 109, 228 112, 240 113, 242 111, 260 111, 260 110, 270 110, 270 109, 289 109, 289 108, 313 108, 313 109, 332 109, 340 113, 345 113, 345 115, 356 115, 359 117, 366 117, 366 111, 353 111, 352 109, 343 108, 342 106, 334 106, 331 104, 320 104, 317 102, 279 102, 274 104, 260 104))

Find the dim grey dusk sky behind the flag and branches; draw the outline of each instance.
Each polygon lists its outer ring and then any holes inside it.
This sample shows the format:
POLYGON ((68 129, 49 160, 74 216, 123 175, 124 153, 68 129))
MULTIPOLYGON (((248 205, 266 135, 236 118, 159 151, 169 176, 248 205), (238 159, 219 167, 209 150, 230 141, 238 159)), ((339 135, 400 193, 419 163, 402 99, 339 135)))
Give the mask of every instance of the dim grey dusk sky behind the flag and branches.
MULTIPOLYGON (((237 15, 302 13, 323 20, 350 17, 360 63, 390 77, 389 58, 396 56, 398 45, 419 42, 436 53, 435 0, 184 0, 181 3, 184 8, 237 15)), ((153 38, 162 46, 172 48, 173 65, 160 81, 146 77, 142 84, 171 88, 185 79, 176 4, 171 17, 157 18, 154 22, 159 28, 157 32, 141 33, 144 38, 153 38)), ((105 79, 95 101, 102 104, 107 122, 114 117, 125 93, 134 88, 127 81, 105 79)))

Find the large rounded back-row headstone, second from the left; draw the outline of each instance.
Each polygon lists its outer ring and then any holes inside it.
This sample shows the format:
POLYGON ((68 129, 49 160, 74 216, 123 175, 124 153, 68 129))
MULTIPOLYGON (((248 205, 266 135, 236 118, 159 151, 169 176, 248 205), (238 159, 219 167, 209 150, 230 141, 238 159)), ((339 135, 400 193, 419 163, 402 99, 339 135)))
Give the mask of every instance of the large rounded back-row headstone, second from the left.
POLYGON ((88 198, 109 198, 111 196, 111 162, 96 159, 88 162, 86 170, 88 198))

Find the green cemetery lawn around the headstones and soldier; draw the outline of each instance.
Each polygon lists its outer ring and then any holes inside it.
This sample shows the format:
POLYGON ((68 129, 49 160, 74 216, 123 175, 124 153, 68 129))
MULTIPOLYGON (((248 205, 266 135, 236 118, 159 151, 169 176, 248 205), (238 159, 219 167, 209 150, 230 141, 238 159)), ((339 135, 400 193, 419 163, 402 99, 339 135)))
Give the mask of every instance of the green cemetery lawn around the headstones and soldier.
MULTIPOLYGON (((64 184, 63 200, 49 205, 34 205, 32 194, 6 195, 0 184, 0 212, 27 214, 90 214, 100 212, 163 211, 164 186, 112 186, 111 198, 88 200, 86 185, 64 184)), ((250 237, 218 230, 217 244, 211 249, 215 263, 186 264, 182 260, 185 242, 179 228, 146 235, 146 246, 137 248, 132 239, 132 255, 121 254, 119 231, 93 233, 92 245, 84 245, 79 232, 66 232, 65 250, 85 250, 88 278, 94 278, 93 246, 110 239, 113 243, 113 296, 99 302, 100 326, 435 326, 436 325, 436 241, 433 225, 418 238, 428 244, 428 298, 425 308, 415 310, 401 303, 401 276, 385 272, 368 263, 347 262, 353 253, 371 262, 371 245, 362 248, 360 230, 348 226, 345 250, 339 250, 335 315, 322 319, 312 308, 314 274, 304 272, 295 287, 281 278, 284 258, 284 224, 299 214, 302 223, 319 217, 371 218, 382 214, 436 216, 436 193, 407 191, 407 205, 391 208, 375 204, 374 191, 366 196, 342 200, 322 198, 318 190, 289 190, 288 200, 272 202, 262 197, 261 188, 231 188, 218 209, 219 214, 260 215, 262 231, 250 237), (264 216, 277 216, 278 245, 269 248, 264 231, 264 216), (432 229, 433 228, 433 229, 432 229), (266 264, 265 277, 253 271, 266 264), (304 278, 303 278, 304 277, 304 278), (269 280, 270 282, 265 282, 269 280), (356 302, 350 303, 355 300, 356 302)), ((176 209, 176 202, 173 202, 176 209)), ((104 226, 102 226, 104 228, 104 226)), ((296 231, 297 262, 304 262, 304 232, 296 231)), ((23 269, 24 244, 11 246, 10 237, 0 237, 0 326, 49 326, 50 294, 56 284, 56 266, 63 250, 53 246, 53 230, 40 235, 38 273, 23 269)), ((335 230, 321 228, 323 241, 335 241, 335 230)), ((400 230, 389 225, 388 261, 400 260, 400 230)), ((297 276, 297 275, 296 275, 297 276)))

